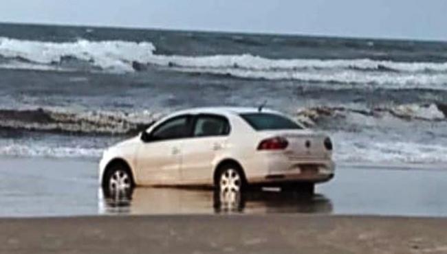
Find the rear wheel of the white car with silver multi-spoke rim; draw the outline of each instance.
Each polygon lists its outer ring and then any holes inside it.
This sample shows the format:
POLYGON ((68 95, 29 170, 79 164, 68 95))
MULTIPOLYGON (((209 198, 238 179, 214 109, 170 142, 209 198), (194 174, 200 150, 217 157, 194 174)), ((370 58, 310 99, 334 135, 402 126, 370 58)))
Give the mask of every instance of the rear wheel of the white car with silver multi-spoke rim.
POLYGON ((247 187, 246 176, 236 163, 226 163, 217 170, 215 189, 219 192, 242 192, 247 187))

